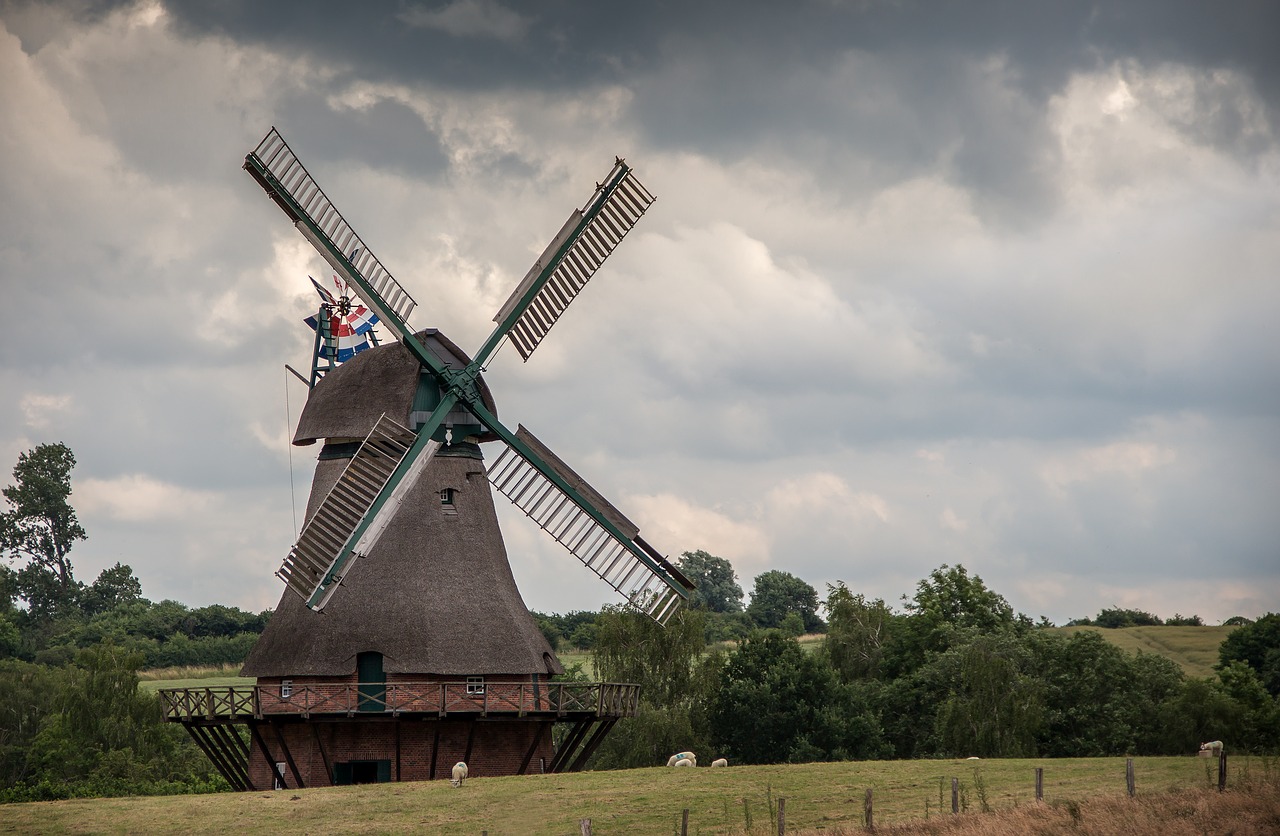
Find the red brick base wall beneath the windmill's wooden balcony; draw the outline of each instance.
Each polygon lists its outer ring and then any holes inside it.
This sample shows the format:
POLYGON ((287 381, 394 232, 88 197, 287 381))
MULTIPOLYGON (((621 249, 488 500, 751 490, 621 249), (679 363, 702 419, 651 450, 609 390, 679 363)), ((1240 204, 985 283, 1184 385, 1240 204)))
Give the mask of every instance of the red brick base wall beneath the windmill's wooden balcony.
MULTIPOLYGON (((431 777, 431 754, 435 732, 439 730, 439 749, 435 753, 435 778, 449 778, 453 764, 463 760, 467 736, 472 734, 471 758, 467 769, 471 777, 516 775, 520 763, 532 745, 534 735, 541 731, 541 740, 529 762, 527 772, 539 771, 539 758, 550 764, 553 746, 549 721, 536 719, 385 719, 367 718, 337 722, 279 723, 284 743, 293 762, 302 773, 306 786, 328 786, 324 758, 316 745, 316 736, 324 745, 330 767, 348 760, 390 760, 393 781, 426 781, 431 777), (396 736, 399 734, 399 772, 397 773, 396 736)), ((259 734, 270 752, 262 757, 255 743, 250 752, 250 780, 262 790, 271 787, 271 764, 284 763, 275 732, 269 722, 259 723, 259 734)), ((285 767, 285 785, 297 785, 285 767)))

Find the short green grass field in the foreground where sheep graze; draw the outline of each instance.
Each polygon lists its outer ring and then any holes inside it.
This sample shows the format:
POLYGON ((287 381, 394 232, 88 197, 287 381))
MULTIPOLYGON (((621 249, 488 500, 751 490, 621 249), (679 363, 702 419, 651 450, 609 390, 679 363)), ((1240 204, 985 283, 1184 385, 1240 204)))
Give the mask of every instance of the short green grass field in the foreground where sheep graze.
MULTIPOLYGON (((1208 758, 1138 758, 1139 795, 1189 791, 1216 781, 1208 758)), ((1276 792, 1280 763, 1233 758, 1231 787, 1276 792)), ((92 799, 3 808, 0 832, 410 832, 669 833, 682 808, 690 833, 767 832, 771 803, 786 798, 788 832, 860 828, 873 791, 877 824, 950 812, 959 778, 966 814, 1009 809, 1034 799, 1034 769, 1044 768, 1050 803, 1124 798, 1124 758, 1061 760, 897 760, 627 769, 577 775, 381 784, 275 792, 92 799), (750 819, 750 822, 749 822, 750 819)), ((776 831, 773 831, 776 832, 776 831)))

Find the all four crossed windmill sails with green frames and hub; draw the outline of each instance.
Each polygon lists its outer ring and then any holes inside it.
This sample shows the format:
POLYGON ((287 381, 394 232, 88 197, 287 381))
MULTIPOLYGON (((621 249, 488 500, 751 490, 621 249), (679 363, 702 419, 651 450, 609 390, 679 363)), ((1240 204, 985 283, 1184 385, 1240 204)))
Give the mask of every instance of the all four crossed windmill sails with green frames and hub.
POLYGON ((507 446, 489 469, 494 486, 630 606, 666 623, 680 602, 689 598, 692 590, 689 579, 531 433, 522 426, 512 433, 498 421, 485 407, 479 385, 485 361, 503 338, 509 338, 521 357, 529 360, 604 259, 653 204, 653 195, 636 181, 631 168, 621 157, 614 161, 591 198, 570 215, 498 311, 497 328, 463 369, 447 367, 417 339, 408 324, 417 305, 413 297, 372 255, 275 128, 244 157, 244 170, 396 333, 443 393, 416 434, 385 416, 374 428, 276 572, 289 589, 312 609, 324 608, 355 561, 374 548, 439 449, 433 435, 461 403, 507 446))

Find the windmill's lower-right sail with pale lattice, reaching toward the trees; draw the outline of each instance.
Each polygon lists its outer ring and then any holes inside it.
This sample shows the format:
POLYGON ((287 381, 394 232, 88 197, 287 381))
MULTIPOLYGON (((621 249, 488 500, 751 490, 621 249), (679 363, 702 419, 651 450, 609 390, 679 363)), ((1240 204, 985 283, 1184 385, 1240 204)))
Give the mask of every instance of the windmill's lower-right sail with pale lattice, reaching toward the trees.
POLYGON ((532 433, 520 426, 516 439, 530 454, 515 446, 503 449, 489 467, 489 481, 494 488, 621 593, 628 604, 654 621, 667 623, 686 590, 692 589, 689 579, 640 538, 640 529, 634 522, 532 433), (552 481, 545 469, 554 471, 581 499, 552 481), (589 507, 609 525, 602 525, 589 507))

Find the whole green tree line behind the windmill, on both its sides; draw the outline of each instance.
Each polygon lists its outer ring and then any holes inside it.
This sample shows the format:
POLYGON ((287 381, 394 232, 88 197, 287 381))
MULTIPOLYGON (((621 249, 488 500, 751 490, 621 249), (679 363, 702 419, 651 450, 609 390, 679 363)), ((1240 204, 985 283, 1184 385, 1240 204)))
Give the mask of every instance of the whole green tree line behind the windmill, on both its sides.
MULTIPOLYGON (((0 801, 228 789, 138 671, 242 662, 270 612, 152 603, 122 563, 78 581, 74 463, 40 446, 3 492, 0 548, 18 568, 0 566, 0 801)), ((620 607, 534 613, 553 647, 590 650, 596 679, 643 687, 593 768, 685 749, 740 763, 1280 750, 1280 615, 1233 620, 1216 676, 1189 679, 1097 632, 1046 630, 961 566, 896 609, 845 584, 819 599, 783 571, 755 577, 748 603, 730 561, 696 551, 678 566, 698 586, 666 627, 620 607)), ((1092 622, 1139 620, 1160 622, 1117 608, 1092 622)))

